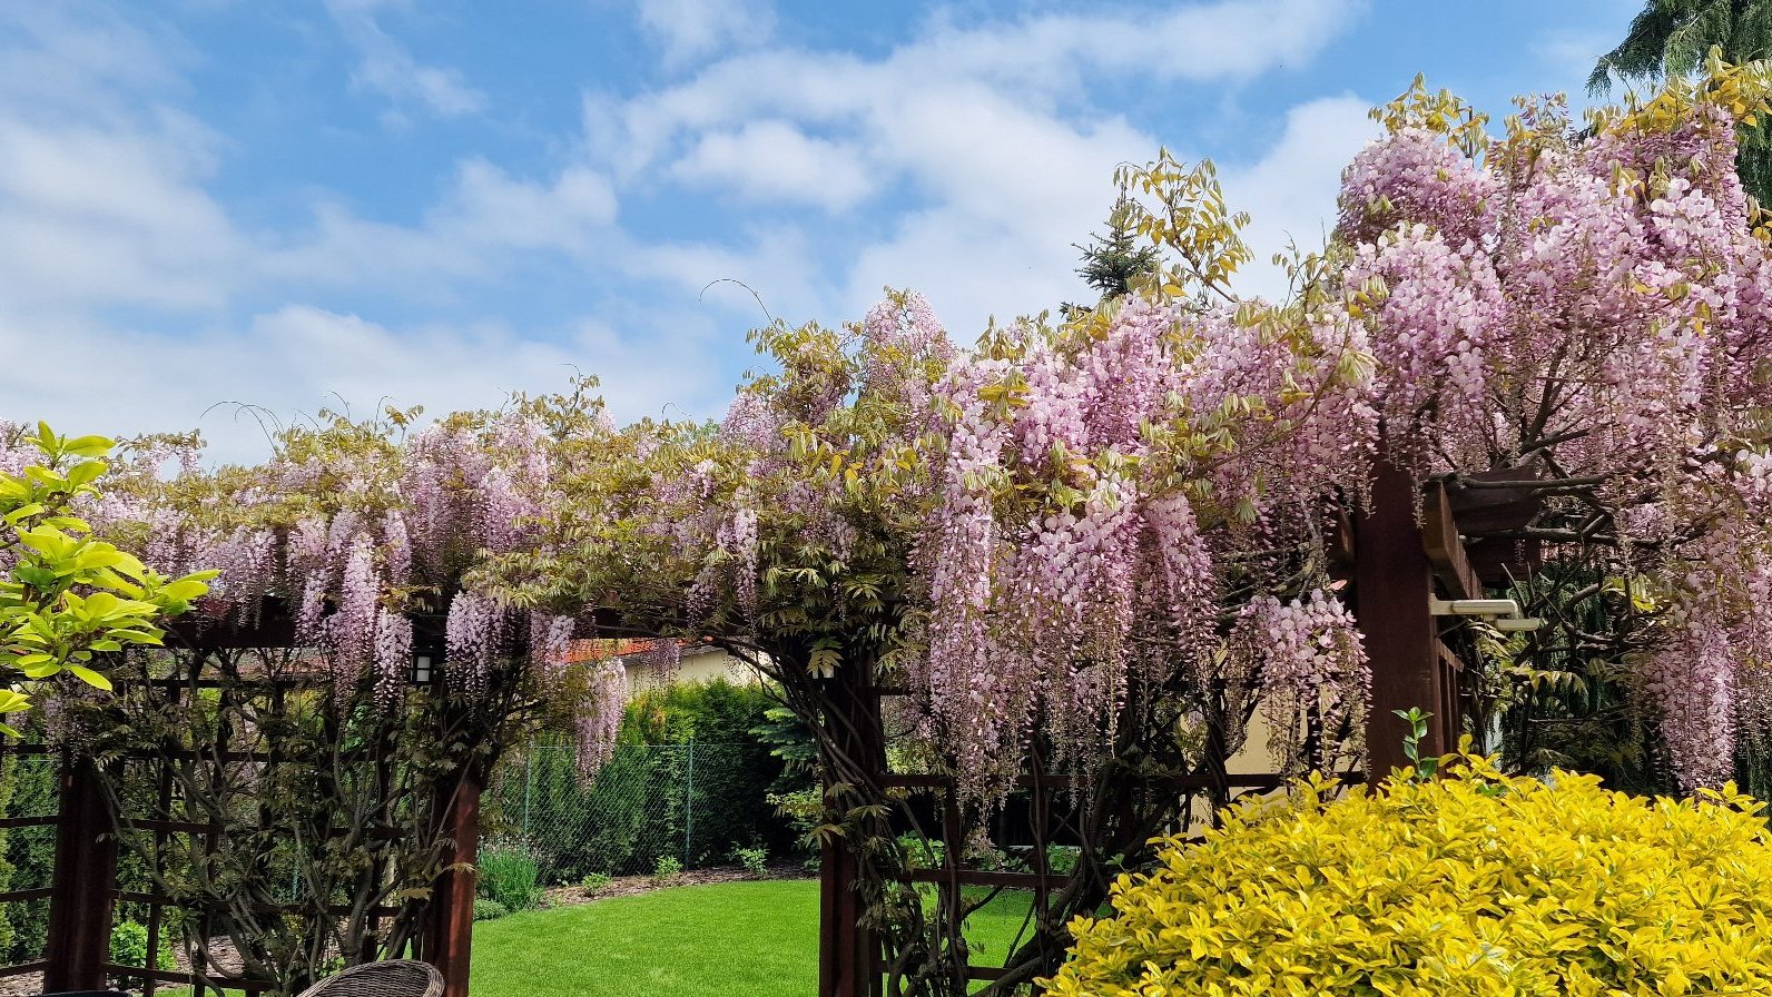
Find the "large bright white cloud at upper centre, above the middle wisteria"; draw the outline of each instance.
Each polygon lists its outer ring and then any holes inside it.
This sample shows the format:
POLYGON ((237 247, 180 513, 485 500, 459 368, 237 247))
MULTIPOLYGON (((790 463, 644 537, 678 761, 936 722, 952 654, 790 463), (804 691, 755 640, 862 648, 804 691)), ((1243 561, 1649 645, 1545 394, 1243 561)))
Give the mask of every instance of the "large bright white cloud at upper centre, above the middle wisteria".
MULTIPOLYGON (((787 198, 799 188, 797 200, 828 198, 828 207, 861 197, 856 170, 865 163, 867 189, 902 189, 909 204, 843 246, 833 290, 813 303, 819 317, 859 315, 881 285, 914 287, 959 335, 971 336, 991 315, 1012 319, 1088 294, 1074 273, 1072 243, 1099 228, 1113 200, 1115 166, 1145 161, 1157 149, 1157 136, 1090 108, 1084 76, 1242 80, 1310 58, 1359 7, 1352 0, 1219 0, 1157 16, 1104 11, 968 27, 932 21, 874 60, 753 51, 650 94, 594 97, 587 135, 620 184, 650 182, 666 161, 677 179, 723 182, 716 189, 750 198, 787 198), (808 163, 831 168, 820 175, 808 163)), ((1364 104, 1357 106, 1363 119, 1364 104)), ((1279 165, 1255 170, 1262 189, 1249 207, 1274 216, 1258 221, 1256 243, 1306 223, 1301 241, 1308 241, 1320 213, 1333 214, 1341 151, 1357 149, 1366 131, 1357 129, 1356 140, 1334 131, 1345 115, 1329 115, 1333 128, 1311 131, 1324 113, 1302 112, 1288 128, 1286 154, 1306 163, 1292 166, 1297 175, 1279 165), (1333 166, 1313 172, 1313 161, 1333 166), (1310 197, 1322 198, 1318 214, 1299 207, 1310 197)), ((1263 244, 1263 260, 1276 248, 1263 244)), ((730 255, 742 259, 744 250, 730 255)), ((727 257, 703 246, 679 253, 672 266, 688 276, 702 260, 712 267, 727 257)), ((783 274, 820 266, 829 264, 808 255, 799 267, 766 274, 757 289, 771 299, 792 298, 776 292, 783 274)))

